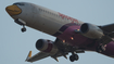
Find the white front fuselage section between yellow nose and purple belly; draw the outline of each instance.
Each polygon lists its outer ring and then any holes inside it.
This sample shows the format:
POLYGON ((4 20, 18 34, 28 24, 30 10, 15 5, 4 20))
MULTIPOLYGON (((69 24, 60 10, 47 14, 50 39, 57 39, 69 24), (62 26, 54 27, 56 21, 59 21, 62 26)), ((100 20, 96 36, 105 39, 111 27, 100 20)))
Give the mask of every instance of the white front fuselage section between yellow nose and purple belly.
POLYGON ((27 26, 50 35, 59 31, 67 23, 83 24, 80 21, 74 22, 75 18, 73 21, 72 17, 61 16, 59 12, 33 3, 26 3, 24 7, 18 5, 18 8, 22 9, 22 13, 12 16, 14 20, 21 18, 26 22, 27 26))

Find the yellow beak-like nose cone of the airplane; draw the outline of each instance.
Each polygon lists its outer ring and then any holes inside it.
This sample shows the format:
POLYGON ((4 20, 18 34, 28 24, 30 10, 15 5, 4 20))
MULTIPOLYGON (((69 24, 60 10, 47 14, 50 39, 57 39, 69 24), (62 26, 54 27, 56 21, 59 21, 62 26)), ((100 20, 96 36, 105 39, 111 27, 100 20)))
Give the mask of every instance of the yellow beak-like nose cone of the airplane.
POLYGON ((22 10, 17 5, 9 5, 5 8, 5 11, 12 16, 22 13, 22 10))

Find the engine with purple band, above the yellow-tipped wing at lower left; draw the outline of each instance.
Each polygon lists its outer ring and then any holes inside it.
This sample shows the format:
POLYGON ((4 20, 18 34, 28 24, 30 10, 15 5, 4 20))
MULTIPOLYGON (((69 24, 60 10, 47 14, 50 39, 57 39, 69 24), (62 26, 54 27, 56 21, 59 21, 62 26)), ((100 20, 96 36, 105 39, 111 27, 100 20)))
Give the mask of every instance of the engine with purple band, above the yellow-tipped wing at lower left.
POLYGON ((42 52, 55 54, 58 52, 56 46, 53 44, 53 41, 39 39, 36 42, 36 48, 42 52))

